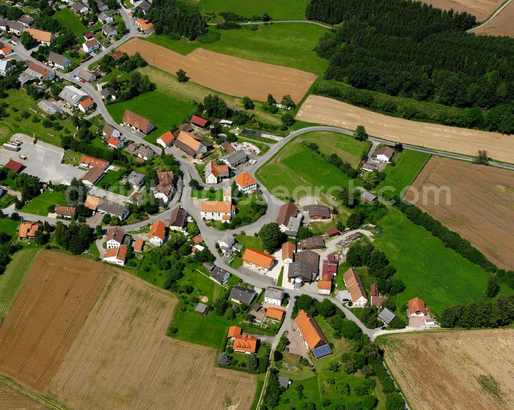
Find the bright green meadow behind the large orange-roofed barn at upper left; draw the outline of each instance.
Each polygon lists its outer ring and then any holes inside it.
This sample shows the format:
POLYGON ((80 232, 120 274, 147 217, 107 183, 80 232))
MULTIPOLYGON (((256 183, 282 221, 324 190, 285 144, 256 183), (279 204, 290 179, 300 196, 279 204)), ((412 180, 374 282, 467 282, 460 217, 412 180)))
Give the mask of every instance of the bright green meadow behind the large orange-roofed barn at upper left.
POLYGON ((188 122, 195 111, 192 104, 178 101, 161 93, 158 89, 145 92, 132 100, 107 105, 107 110, 117 123, 122 122, 126 109, 143 116, 155 125, 156 130, 144 137, 145 141, 152 144, 155 144, 157 138, 164 132, 188 122))

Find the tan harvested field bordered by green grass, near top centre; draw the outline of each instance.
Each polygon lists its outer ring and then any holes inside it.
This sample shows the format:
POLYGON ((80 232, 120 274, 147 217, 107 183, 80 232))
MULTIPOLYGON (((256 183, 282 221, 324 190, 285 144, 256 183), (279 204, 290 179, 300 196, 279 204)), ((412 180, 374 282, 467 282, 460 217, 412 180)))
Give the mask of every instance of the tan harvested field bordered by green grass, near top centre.
POLYGON ((186 71, 194 83, 237 97, 266 101, 268 93, 282 97, 290 94, 300 102, 316 80, 316 75, 295 68, 275 66, 257 61, 197 48, 182 55, 140 38, 132 38, 118 50, 133 55, 139 52, 148 62, 161 70, 175 74, 186 71))

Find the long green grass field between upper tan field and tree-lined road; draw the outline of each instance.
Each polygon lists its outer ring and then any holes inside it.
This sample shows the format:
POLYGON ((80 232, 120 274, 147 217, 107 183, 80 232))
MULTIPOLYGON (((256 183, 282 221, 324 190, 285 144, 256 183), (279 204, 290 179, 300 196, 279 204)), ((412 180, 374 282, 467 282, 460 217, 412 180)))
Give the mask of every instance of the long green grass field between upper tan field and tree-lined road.
MULTIPOLYGON (((280 3, 277 3, 280 4, 280 3)), ((303 9, 305 10, 305 9, 303 9)), ((164 35, 152 35, 144 40, 186 55, 201 47, 219 53, 260 61, 278 66, 292 67, 321 75, 328 61, 318 57, 313 49, 327 29, 314 24, 290 23, 259 26, 257 31, 247 27, 240 30, 217 30, 220 40, 214 43, 173 41, 164 35)))

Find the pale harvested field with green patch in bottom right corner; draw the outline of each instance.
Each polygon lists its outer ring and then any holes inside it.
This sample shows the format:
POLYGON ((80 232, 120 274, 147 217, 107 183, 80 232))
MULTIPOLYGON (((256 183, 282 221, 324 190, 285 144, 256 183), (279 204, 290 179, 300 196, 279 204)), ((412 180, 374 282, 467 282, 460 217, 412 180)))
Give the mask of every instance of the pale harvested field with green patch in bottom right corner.
POLYGON ((405 334, 381 344, 416 410, 514 408, 514 329, 405 334))

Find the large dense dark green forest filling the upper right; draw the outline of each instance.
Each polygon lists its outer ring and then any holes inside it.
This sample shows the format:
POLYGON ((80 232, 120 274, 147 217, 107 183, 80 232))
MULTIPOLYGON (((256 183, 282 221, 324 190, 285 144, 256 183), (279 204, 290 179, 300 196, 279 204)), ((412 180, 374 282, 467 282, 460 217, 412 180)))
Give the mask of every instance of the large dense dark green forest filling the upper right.
MULTIPOLYGON (((306 17, 344 21, 316 48, 330 61, 327 80, 446 106, 498 107, 501 116, 514 110, 514 40, 466 33, 475 23, 467 13, 405 0, 312 0, 306 17)), ((514 121, 478 117, 466 126, 514 132, 514 121)))

